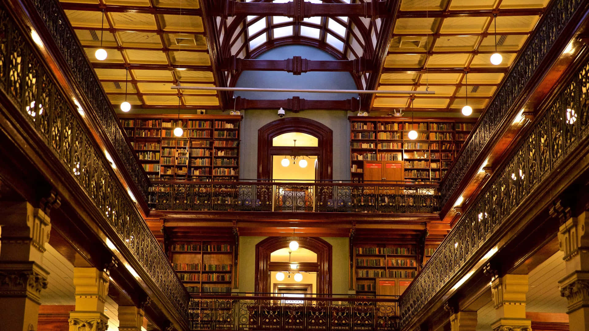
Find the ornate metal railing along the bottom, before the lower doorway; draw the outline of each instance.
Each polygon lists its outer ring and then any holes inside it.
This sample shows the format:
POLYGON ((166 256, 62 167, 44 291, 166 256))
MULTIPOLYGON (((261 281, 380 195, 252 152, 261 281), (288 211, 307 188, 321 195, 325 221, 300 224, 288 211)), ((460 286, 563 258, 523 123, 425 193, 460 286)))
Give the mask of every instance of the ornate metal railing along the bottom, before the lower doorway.
POLYGON ((387 299, 194 297, 192 330, 395 330, 398 304, 387 299))

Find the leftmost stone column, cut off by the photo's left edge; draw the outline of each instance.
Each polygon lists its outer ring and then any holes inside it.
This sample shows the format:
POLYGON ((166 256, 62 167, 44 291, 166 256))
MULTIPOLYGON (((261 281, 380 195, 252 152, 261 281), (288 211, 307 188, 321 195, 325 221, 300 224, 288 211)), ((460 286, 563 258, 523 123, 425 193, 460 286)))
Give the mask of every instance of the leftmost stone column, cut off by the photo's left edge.
POLYGON ((48 272, 41 267, 51 221, 26 201, 0 202, 0 326, 37 330, 41 290, 48 272))

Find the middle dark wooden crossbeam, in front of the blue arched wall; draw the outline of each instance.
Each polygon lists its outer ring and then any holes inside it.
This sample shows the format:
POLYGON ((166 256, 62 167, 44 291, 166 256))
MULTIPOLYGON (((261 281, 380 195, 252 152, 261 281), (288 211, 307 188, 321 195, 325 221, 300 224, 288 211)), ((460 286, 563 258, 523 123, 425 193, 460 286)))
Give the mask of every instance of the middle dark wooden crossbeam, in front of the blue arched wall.
POLYGON ((302 57, 292 57, 283 60, 242 59, 235 56, 225 58, 221 69, 225 71, 241 72, 244 70, 258 71, 286 71, 294 75, 309 71, 372 71, 365 58, 353 60, 310 60, 302 57))

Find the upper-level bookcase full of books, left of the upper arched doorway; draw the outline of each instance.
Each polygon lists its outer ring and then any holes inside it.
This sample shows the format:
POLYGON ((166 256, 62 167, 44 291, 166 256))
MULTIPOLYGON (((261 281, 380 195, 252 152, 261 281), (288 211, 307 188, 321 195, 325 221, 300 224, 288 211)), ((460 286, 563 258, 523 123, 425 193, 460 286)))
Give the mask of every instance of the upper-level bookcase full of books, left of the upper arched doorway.
POLYGON ((150 178, 237 180, 241 115, 120 115, 121 124, 150 178))

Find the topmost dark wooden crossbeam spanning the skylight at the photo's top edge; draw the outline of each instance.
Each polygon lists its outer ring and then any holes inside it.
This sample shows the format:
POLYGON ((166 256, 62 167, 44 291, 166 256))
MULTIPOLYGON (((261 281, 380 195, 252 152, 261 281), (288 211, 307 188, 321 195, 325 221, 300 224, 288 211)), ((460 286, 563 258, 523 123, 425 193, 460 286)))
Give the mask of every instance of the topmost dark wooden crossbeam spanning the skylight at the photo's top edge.
POLYGON ((283 4, 273 2, 237 2, 225 0, 217 2, 214 15, 223 18, 240 15, 251 16, 287 16, 295 21, 302 21, 313 16, 348 16, 378 18, 391 14, 388 1, 372 1, 362 4, 313 4, 302 0, 293 0, 283 4))

